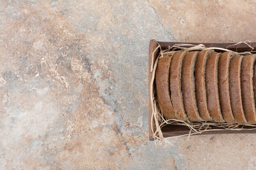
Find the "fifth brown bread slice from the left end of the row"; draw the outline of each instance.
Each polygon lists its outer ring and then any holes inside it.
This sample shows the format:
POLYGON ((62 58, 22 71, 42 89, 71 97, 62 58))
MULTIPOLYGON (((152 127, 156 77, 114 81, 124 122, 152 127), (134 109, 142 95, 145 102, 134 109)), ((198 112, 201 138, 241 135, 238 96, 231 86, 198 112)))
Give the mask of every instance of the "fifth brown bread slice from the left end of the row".
POLYGON ((218 92, 218 60, 220 53, 213 52, 207 58, 205 68, 205 85, 207 94, 207 108, 214 121, 224 122, 220 110, 218 92))

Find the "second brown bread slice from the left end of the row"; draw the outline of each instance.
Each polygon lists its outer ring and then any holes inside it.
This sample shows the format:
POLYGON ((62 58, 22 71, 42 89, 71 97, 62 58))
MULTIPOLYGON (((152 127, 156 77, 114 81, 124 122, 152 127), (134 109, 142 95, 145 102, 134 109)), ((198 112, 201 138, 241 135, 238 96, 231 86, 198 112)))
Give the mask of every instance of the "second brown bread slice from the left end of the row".
POLYGON ((170 66, 170 89, 171 89, 171 102, 173 104, 174 114, 177 119, 188 120, 188 116, 184 110, 183 96, 181 90, 181 70, 183 58, 186 51, 175 52, 170 66))

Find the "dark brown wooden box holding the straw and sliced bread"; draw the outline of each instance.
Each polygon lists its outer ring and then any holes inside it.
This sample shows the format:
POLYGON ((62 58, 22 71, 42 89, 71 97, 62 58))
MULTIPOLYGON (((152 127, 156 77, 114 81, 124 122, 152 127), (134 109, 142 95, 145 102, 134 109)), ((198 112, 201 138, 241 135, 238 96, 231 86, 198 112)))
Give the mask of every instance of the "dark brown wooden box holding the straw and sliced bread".
MULTIPOLYGON (((184 43, 184 42, 157 42, 156 40, 150 40, 149 42, 149 49, 148 49, 148 131, 149 131, 149 140, 152 141, 154 138, 152 137, 153 132, 151 129, 151 115, 152 115, 152 109, 151 109, 151 102, 150 102, 150 81, 152 77, 152 73, 150 72, 150 67, 151 67, 151 62, 152 62, 152 53, 153 51, 157 48, 158 44, 161 46, 162 49, 166 49, 168 46, 173 46, 174 44, 204 44, 206 47, 220 47, 226 49, 227 46, 229 46, 227 49, 231 51, 237 51, 237 52, 244 52, 248 51, 249 47, 246 44, 240 44, 238 45, 233 45, 235 43, 184 43)), ((248 43, 252 47, 254 47, 253 51, 256 51, 256 42, 251 42, 248 43)), ((218 51, 215 50, 216 52, 223 52, 223 51, 218 51)), ((154 53, 153 56, 153 62, 155 62, 155 59, 159 55, 159 50, 154 53)), ((153 88, 155 88, 155 82, 153 83, 153 88)), ((209 135, 209 134, 228 134, 228 133, 256 133, 256 129, 254 130, 248 130, 249 126, 244 126, 243 130, 216 130, 216 131, 206 131, 202 132, 201 134, 196 134, 196 135, 209 135)), ((211 126, 211 129, 223 129, 221 127, 215 127, 211 126)), ((156 125, 155 125, 155 120, 153 120, 153 131, 155 132, 156 130, 156 125)), ((184 135, 189 133, 189 128, 186 126, 182 125, 166 125, 162 128, 162 133, 164 137, 171 137, 171 136, 177 136, 177 135, 184 135)))

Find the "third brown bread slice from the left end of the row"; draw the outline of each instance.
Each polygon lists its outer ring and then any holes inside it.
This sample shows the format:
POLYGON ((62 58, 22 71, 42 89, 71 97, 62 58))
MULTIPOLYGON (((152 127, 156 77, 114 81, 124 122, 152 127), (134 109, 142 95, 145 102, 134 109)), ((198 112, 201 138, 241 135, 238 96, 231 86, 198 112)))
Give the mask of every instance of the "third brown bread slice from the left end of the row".
POLYGON ((186 114, 191 121, 202 121, 195 99, 195 61, 198 51, 187 52, 182 63, 182 94, 186 114))

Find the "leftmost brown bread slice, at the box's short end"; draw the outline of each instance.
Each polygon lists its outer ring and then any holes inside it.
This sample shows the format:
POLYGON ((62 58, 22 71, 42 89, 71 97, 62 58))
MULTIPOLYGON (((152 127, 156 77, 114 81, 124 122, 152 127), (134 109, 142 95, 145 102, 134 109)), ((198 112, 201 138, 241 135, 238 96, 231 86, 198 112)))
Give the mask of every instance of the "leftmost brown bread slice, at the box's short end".
POLYGON ((170 65, 172 56, 173 53, 168 53, 159 58, 155 71, 157 101, 162 108, 163 116, 167 119, 177 119, 174 115, 170 94, 170 65))

